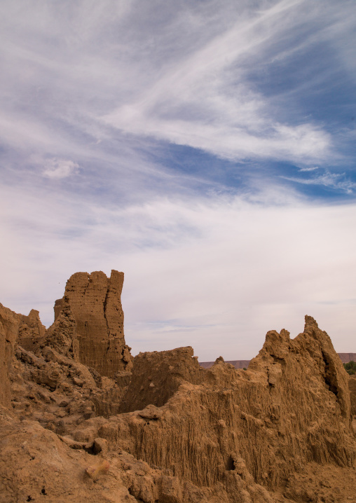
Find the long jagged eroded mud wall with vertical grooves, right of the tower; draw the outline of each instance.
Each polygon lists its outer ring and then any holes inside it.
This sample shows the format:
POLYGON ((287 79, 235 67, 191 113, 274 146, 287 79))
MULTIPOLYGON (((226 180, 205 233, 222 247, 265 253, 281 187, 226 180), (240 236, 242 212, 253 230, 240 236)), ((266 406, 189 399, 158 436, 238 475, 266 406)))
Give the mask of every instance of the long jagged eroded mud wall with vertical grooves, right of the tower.
POLYGON ((268 332, 247 371, 223 361, 206 371, 191 355, 181 348, 135 357, 123 398, 132 413, 101 424, 97 434, 207 487, 230 481, 237 489, 235 465, 275 489, 309 462, 355 462, 348 376, 312 318, 294 340, 287 331, 268 332), (146 404, 151 412, 134 412, 146 404))

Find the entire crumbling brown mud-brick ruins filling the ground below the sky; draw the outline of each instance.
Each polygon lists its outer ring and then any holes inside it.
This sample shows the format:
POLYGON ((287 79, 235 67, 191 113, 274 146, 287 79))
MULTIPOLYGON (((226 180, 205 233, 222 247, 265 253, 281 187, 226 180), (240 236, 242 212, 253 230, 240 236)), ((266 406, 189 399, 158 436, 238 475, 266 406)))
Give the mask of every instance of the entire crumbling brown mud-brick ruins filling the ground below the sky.
POLYGON ((48 329, 0 304, 1 502, 356 502, 356 378, 312 317, 247 370, 132 358, 122 288, 72 275, 48 329))

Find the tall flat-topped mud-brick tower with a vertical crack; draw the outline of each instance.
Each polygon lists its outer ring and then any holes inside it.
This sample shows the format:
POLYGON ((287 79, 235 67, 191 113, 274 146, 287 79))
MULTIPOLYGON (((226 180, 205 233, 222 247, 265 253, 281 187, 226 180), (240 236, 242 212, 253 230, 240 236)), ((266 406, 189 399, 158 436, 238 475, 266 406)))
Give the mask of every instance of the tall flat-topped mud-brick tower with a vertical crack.
MULTIPOLYGON (((108 377, 132 368, 123 333, 122 289, 123 273, 112 270, 110 278, 101 271, 75 273, 64 292, 76 320, 79 361, 108 377)), ((55 319, 63 299, 55 302, 55 319)))

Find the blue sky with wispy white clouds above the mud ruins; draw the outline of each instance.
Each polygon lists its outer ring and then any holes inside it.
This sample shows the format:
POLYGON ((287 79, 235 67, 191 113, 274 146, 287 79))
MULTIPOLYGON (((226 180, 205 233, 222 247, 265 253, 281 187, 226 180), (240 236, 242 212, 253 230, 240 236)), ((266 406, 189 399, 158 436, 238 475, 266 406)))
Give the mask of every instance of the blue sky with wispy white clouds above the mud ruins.
POLYGON ((354 0, 1 0, 0 302, 115 269, 134 355, 356 352, 355 39, 354 0))

